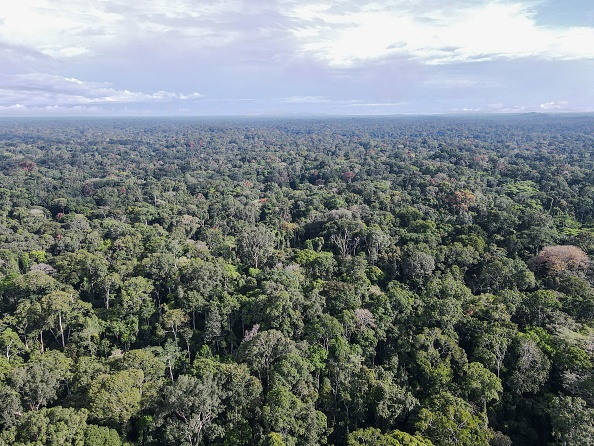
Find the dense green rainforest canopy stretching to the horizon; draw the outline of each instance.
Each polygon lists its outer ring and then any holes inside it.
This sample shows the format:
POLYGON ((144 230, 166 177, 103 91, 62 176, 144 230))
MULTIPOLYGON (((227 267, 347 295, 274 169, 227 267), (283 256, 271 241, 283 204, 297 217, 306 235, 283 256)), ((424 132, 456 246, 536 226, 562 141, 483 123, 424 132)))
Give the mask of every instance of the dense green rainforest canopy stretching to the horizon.
POLYGON ((594 117, 0 120, 0 445, 594 444, 594 117))

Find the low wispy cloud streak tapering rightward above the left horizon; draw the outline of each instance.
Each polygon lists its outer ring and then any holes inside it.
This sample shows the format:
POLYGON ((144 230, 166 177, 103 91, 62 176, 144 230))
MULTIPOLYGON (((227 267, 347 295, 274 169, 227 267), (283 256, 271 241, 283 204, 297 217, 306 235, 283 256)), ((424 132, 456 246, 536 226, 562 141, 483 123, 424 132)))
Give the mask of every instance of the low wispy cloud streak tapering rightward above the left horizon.
POLYGON ((188 101, 200 93, 154 93, 118 90, 109 83, 86 82, 48 74, 0 75, 0 104, 54 106, 188 101))

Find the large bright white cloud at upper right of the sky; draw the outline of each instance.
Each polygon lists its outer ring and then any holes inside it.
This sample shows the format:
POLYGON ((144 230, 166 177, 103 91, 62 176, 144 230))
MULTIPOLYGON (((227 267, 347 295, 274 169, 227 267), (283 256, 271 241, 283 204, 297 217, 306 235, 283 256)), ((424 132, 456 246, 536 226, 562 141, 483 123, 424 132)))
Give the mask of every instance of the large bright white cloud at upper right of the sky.
POLYGON ((303 49, 334 66, 406 54, 429 64, 498 58, 594 57, 594 29, 538 26, 531 3, 467 3, 413 11, 410 2, 348 15, 326 6, 295 10, 303 49), (309 25, 307 22, 309 21, 309 25))

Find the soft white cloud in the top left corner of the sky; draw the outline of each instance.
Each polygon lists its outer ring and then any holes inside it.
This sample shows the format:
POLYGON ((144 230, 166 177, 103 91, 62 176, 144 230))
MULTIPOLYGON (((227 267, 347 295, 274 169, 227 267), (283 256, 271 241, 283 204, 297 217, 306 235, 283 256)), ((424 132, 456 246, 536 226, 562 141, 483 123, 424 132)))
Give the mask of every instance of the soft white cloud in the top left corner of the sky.
POLYGON ((252 33, 254 17, 266 13, 245 0, 19 0, 5 12, 0 41, 56 60, 104 56, 155 39, 182 48, 220 47, 252 33))

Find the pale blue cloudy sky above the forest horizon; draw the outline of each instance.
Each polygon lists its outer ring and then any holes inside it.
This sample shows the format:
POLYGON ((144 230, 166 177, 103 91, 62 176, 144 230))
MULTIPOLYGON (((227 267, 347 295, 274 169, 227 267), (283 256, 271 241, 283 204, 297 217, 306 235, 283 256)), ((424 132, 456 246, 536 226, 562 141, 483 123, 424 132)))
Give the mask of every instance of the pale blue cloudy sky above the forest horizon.
POLYGON ((593 111, 592 0, 0 3, 0 116, 593 111))

